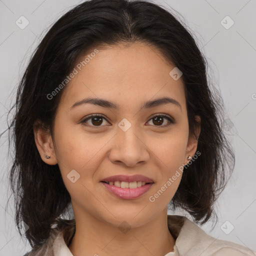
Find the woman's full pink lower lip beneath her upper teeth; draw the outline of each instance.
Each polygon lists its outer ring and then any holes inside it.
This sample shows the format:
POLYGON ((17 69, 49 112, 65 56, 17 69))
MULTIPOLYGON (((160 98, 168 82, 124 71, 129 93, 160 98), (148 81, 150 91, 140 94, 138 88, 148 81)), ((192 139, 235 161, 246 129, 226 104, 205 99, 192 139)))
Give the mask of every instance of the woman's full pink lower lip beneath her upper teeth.
POLYGON ((121 188, 118 186, 109 185, 102 181, 101 181, 101 183, 105 186, 105 188, 108 191, 110 191, 117 197, 123 198, 123 199, 137 198, 137 197, 141 196, 142 194, 144 194, 145 192, 147 192, 153 184, 153 183, 148 183, 148 184, 145 184, 145 185, 137 187, 137 188, 121 188))

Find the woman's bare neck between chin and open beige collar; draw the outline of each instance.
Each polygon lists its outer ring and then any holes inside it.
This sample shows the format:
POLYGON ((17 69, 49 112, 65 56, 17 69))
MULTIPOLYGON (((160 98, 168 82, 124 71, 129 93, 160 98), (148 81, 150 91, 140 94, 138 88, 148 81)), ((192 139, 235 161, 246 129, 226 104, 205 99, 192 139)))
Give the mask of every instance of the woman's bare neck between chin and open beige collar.
POLYGON ((75 224, 68 246, 73 256, 162 256, 173 251, 175 244, 167 226, 167 209, 144 225, 126 229, 91 215, 75 215, 75 224))

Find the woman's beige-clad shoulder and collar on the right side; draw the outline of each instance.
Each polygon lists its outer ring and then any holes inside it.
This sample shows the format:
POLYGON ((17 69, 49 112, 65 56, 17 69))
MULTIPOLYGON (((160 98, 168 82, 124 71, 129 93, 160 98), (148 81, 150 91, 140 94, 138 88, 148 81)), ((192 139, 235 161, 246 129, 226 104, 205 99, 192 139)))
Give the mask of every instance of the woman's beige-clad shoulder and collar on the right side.
POLYGON ((181 225, 179 230, 177 228, 178 236, 175 243, 180 256, 256 256, 256 252, 247 247, 234 242, 216 239, 208 235, 194 222, 184 216, 173 216, 168 215, 168 226, 172 226, 172 221, 179 223, 179 226, 181 225))

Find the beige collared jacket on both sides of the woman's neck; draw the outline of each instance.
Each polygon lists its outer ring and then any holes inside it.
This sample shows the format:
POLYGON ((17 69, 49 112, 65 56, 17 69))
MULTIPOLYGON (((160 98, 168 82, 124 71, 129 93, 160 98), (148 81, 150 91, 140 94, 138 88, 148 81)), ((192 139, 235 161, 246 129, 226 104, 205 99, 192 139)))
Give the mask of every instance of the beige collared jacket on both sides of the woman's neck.
MULTIPOLYGON (((206 234, 188 218, 179 215, 167 215, 168 228, 174 237, 174 251, 163 256, 255 256, 247 247, 233 242, 215 239, 206 234)), ((70 224, 57 229, 52 228, 45 243, 23 256, 73 256, 68 245, 75 232, 74 219, 70 224)))

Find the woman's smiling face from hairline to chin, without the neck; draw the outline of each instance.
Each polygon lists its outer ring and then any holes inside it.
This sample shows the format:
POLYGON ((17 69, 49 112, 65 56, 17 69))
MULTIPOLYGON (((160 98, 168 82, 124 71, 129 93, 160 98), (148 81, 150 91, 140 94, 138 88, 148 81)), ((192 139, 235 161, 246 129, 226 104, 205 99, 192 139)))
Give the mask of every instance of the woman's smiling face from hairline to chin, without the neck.
POLYGON ((58 164, 75 214, 139 226, 166 208, 182 164, 196 151, 197 141, 188 136, 184 85, 169 75, 174 66, 152 46, 136 42, 98 50, 66 85, 48 140, 51 158, 42 159, 58 164), (161 98, 168 99, 155 101, 161 98), (118 196, 101 182, 134 174, 153 181, 135 198, 118 196))

